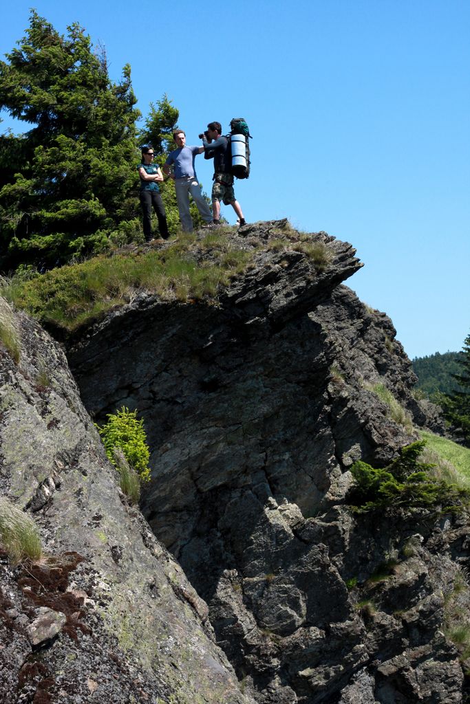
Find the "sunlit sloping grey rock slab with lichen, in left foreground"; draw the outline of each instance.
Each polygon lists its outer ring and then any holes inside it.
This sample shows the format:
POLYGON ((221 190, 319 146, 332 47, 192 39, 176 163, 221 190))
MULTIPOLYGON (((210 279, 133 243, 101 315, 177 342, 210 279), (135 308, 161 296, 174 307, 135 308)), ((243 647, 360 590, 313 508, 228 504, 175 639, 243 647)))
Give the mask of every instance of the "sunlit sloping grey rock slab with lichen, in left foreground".
POLYGON ((118 489, 61 349, 1 301, 1 494, 37 522, 44 558, 0 552, 4 704, 249 704, 207 607, 118 489))

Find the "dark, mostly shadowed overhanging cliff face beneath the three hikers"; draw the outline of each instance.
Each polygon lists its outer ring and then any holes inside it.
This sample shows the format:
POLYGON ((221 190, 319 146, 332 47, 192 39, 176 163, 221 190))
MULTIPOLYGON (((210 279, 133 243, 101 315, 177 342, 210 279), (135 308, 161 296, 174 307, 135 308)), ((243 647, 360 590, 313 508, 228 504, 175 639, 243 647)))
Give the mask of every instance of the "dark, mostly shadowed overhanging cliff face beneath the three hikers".
MULTIPOLYGON (((268 243, 275 227, 237 237, 268 243)), ((392 323, 341 283, 360 267, 354 250, 315 238, 325 268, 268 249, 216 305, 142 295, 75 340, 69 362, 93 414, 142 413, 144 513, 257 701, 462 702, 443 629, 466 523, 342 506, 354 460, 386 465, 415 439, 411 415, 427 417, 392 323), (376 384, 407 408, 409 430, 376 384)))

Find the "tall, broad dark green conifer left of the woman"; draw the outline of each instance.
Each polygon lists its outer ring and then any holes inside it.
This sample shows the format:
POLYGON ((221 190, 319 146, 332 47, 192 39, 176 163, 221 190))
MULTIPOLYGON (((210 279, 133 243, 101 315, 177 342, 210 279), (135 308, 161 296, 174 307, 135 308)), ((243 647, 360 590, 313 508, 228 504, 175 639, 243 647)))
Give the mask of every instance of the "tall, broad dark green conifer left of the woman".
POLYGON ((35 11, 18 45, 0 62, 0 108, 33 126, 0 137, 4 269, 106 248, 137 200, 129 65, 114 84, 79 25, 64 37, 35 11))

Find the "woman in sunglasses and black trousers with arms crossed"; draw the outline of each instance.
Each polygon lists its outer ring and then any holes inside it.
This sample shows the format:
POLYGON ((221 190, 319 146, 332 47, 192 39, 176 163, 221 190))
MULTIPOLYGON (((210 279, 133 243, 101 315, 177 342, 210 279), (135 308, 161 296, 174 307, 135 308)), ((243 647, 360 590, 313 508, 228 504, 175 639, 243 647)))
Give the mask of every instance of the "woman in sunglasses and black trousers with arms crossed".
POLYGON ((150 242, 151 236, 151 208, 153 206, 159 220, 160 237, 168 239, 168 224, 166 222, 165 206, 157 184, 163 181, 160 167, 154 164, 154 149, 151 146, 142 147, 142 163, 137 166, 140 175, 140 204, 144 215, 144 237, 150 242))

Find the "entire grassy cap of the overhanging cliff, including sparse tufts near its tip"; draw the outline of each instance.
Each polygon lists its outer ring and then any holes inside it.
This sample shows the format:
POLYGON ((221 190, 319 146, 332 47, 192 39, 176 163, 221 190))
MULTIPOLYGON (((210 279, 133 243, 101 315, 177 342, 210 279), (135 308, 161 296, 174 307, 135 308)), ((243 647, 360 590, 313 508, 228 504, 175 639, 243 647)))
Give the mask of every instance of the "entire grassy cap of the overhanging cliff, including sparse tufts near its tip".
MULTIPOLYGON (((270 234, 266 250, 297 250, 323 271, 333 256, 314 235, 286 225, 270 234)), ((44 275, 18 272, 4 279, 0 294, 40 322, 73 332, 115 306, 130 303, 142 291, 163 301, 214 301, 230 279, 254 266, 261 241, 237 237, 233 227, 220 227, 204 237, 180 232, 161 249, 130 246, 44 275), (235 235, 235 236, 234 236, 235 235)))

